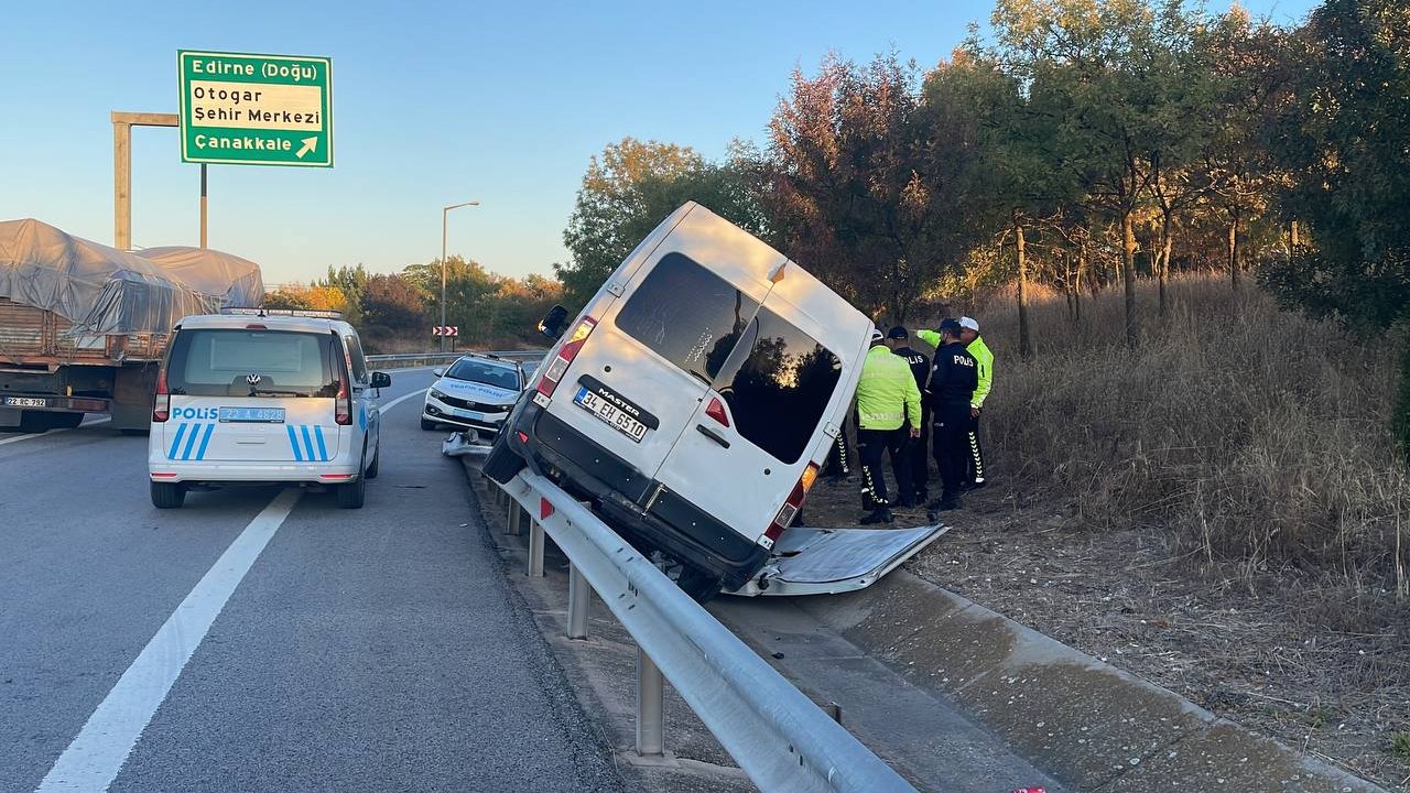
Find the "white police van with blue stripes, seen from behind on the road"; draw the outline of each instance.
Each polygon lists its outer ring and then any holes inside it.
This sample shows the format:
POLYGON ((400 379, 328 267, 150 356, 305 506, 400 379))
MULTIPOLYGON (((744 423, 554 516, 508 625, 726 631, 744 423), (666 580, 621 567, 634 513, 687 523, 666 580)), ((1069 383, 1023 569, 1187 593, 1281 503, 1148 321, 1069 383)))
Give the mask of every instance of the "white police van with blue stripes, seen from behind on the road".
POLYGON ((337 312, 224 309, 175 327, 147 446, 152 504, 228 484, 330 487, 360 508, 381 463, 378 389, 337 312))

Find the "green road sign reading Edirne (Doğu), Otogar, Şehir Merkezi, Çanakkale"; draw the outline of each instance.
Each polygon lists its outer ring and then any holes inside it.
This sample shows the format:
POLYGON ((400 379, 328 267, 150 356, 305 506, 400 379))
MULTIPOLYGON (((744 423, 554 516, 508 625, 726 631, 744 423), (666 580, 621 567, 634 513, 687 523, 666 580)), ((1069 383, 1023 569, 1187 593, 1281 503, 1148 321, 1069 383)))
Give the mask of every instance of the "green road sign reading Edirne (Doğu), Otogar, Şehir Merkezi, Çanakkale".
POLYGON ((182 162, 333 167, 333 62, 176 52, 182 162))

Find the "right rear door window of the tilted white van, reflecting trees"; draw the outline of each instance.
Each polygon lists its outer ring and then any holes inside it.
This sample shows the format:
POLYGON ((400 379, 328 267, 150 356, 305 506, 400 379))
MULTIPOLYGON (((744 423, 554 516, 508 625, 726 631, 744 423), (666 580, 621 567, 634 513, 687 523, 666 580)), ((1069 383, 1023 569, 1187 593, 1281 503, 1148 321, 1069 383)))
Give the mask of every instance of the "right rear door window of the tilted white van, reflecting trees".
POLYGON ((797 463, 842 380, 842 361, 792 323, 759 309, 715 380, 739 435, 783 463, 797 463))

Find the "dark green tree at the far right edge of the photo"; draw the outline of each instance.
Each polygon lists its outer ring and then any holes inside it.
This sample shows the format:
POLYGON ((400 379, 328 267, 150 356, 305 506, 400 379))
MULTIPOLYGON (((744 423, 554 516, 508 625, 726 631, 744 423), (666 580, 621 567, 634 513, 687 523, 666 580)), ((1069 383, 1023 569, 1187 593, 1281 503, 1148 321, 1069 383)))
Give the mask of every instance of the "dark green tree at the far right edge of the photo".
MULTIPOLYGON (((1272 135, 1285 212, 1313 246, 1268 262, 1266 282, 1314 316, 1366 333, 1410 322, 1410 7, 1327 0, 1292 41, 1296 73, 1272 135)), ((1396 430, 1410 454, 1410 344, 1396 430)))

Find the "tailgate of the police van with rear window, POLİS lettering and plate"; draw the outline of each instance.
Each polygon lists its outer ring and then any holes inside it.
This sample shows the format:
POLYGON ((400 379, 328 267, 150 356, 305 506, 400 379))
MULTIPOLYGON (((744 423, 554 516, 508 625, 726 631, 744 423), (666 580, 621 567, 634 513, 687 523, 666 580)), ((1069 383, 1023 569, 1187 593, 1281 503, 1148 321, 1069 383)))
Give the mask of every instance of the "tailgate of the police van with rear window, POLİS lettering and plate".
POLYGON ((169 460, 317 463, 340 449, 334 396, 343 353, 331 333, 196 327, 168 358, 169 460))

